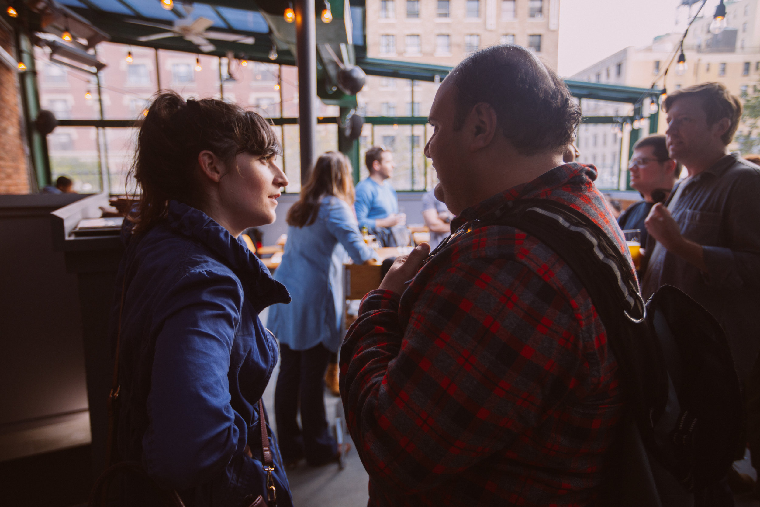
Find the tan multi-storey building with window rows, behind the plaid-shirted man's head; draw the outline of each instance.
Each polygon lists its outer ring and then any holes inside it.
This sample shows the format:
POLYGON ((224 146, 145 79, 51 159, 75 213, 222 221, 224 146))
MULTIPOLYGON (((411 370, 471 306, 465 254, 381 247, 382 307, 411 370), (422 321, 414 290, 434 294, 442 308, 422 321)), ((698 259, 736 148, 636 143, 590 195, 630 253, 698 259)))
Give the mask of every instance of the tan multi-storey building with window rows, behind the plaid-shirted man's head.
MULTIPOLYGON (((368 0, 367 55, 454 66, 470 52, 514 43, 557 67, 559 0, 368 0)), ((369 76, 357 96, 365 116, 427 116, 438 85, 369 76)), ((422 154, 424 125, 366 128, 362 147, 384 144, 394 151, 397 190, 431 188, 422 154)), ((366 176, 363 168, 362 176, 366 176)))

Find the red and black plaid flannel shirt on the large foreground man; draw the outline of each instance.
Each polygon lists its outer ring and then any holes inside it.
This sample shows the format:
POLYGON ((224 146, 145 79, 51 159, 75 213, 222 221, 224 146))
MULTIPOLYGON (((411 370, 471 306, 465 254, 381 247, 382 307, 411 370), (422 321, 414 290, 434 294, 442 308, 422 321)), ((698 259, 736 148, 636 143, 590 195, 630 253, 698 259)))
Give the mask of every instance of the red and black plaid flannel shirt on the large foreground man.
MULTIPOLYGON (((452 229, 505 200, 549 198, 628 252, 596 176, 556 167, 468 208, 452 229)), ((369 505, 588 505, 622 413, 618 382, 578 278, 514 227, 454 239, 401 298, 367 294, 340 351, 369 505)))

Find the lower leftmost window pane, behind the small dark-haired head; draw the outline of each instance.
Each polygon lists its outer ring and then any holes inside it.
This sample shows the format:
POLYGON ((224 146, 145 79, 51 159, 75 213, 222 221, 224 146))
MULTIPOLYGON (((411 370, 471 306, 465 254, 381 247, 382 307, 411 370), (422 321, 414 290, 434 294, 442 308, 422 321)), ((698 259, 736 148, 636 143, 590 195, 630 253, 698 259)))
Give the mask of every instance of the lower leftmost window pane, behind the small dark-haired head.
POLYGON ((94 127, 56 127, 48 136, 52 181, 67 176, 74 181, 74 192, 100 192, 100 157, 97 129, 94 127))

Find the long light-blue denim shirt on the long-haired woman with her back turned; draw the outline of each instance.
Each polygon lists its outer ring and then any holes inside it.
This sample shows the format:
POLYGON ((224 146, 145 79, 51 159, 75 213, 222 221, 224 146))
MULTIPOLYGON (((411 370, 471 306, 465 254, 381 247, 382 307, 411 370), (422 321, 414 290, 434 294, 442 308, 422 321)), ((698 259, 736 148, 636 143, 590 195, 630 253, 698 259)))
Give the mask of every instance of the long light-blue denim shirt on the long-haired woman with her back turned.
POLYGON ((350 205, 339 198, 323 198, 311 225, 288 229, 274 279, 287 287, 293 302, 272 306, 267 321, 280 343, 293 350, 323 344, 337 352, 343 334, 346 253, 356 264, 375 255, 362 239, 350 205))

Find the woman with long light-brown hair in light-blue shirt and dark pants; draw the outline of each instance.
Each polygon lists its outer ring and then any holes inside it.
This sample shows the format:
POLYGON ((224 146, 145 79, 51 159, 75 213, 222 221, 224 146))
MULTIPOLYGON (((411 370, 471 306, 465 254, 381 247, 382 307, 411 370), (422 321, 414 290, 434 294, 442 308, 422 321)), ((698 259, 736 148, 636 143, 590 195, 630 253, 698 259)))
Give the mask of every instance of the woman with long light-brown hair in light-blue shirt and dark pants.
POLYGON ((289 465, 306 458, 316 466, 337 457, 324 393, 325 370, 342 337, 343 263, 346 253, 357 264, 374 257, 359 233, 353 201, 350 163, 344 154, 328 151, 287 214, 290 228, 274 279, 288 287, 293 303, 272 306, 267 325, 280 340, 274 414, 289 465), (303 429, 296 421, 299 397, 303 429))

